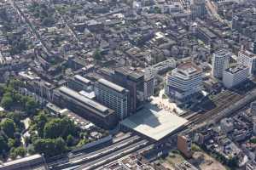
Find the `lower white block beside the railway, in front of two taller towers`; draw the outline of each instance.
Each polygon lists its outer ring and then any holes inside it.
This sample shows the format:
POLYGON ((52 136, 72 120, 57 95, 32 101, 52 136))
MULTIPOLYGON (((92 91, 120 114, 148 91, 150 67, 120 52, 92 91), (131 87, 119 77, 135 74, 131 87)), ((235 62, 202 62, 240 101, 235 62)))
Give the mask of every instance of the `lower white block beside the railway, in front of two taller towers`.
POLYGON ((226 88, 233 88, 247 80, 248 67, 244 65, 231 65, 223 72, 223 83, 226 88))

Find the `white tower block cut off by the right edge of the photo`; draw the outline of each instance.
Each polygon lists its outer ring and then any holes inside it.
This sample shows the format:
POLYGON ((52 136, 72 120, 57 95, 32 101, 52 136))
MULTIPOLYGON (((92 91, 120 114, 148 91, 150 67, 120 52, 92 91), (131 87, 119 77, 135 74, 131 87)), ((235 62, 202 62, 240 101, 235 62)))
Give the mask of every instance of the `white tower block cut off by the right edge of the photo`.
POLYGON ((241 48, 238 52, 237 63, 245 65, 249 68, 249 74, 255 74, 256 72, 256 54, 241 48))

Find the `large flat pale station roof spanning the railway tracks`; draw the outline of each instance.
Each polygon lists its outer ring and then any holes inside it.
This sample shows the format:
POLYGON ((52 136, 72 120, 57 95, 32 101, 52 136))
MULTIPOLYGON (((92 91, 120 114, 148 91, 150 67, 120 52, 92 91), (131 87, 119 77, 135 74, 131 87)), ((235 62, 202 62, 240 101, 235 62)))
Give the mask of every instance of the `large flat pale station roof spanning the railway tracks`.
POLYGON ((183 127, 186 122, 188 121, 183 117, 148 104, 145 105, 142 111, 138 111, 135 115, 126 118, 121 124, 137 133, 148 136, 148 138, 160 140, 173 133, 179 127, 183 127))

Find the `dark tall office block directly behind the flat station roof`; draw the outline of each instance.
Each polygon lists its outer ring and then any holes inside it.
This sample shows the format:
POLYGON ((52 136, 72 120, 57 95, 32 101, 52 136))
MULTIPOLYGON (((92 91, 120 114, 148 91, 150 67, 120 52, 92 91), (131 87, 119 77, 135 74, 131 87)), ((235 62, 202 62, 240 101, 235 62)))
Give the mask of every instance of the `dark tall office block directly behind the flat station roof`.
POLYGON ((130 92, 129 111, 135 113, 144 105, 144 76, 137 71, 119 67, 115 69, 113 81, 130 92))

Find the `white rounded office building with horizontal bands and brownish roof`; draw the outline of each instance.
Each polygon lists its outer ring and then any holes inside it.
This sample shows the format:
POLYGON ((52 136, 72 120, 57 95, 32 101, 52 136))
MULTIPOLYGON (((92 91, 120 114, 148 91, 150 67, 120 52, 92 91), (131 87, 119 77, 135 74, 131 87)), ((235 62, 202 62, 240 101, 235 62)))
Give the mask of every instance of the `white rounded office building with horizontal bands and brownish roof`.
POLYGON ((202 88, 202 71, 188 62, 178 65, 166 77, 166 94, 177 100, 187 100, 198 94, 202 88))

